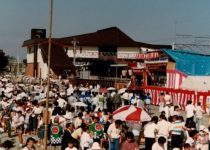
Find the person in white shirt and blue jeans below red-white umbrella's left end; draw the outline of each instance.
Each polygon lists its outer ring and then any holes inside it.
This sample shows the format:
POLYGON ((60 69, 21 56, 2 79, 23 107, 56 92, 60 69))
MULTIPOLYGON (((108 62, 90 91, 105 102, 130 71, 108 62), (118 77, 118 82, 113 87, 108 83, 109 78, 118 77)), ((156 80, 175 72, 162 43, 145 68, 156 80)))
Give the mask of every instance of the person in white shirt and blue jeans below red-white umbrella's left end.
POLYGON ((116 120, 112 123, 107 131, 109 137, 109 149, 110 150, 119 150, 119 144, 121 140, 121 124, 120 120, 116 120))

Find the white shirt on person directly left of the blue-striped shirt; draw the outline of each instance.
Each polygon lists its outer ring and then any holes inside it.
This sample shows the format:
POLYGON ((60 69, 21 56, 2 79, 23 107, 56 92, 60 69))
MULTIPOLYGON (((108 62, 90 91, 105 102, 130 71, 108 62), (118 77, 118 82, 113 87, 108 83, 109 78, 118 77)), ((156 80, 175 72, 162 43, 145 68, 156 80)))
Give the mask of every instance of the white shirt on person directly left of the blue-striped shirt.
POLYGON ((170 123, 166 120, 161 120, 157 123, 157 130, 159 136, 169 136, 170 123))

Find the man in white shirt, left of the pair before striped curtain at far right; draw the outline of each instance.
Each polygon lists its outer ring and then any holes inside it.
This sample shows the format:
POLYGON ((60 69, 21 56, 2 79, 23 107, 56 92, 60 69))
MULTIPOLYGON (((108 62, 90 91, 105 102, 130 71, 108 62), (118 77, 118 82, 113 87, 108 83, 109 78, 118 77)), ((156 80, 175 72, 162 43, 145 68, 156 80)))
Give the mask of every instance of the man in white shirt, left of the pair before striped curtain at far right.
POLYGON ((186 125, 190 124, 191 122, 193 122, 194 120, 194 111, 195 111, 195 107, 192 104, 192 101, 189 100, 187 102, 187 106, 185 107, 185 111, 186 111, 186 125))

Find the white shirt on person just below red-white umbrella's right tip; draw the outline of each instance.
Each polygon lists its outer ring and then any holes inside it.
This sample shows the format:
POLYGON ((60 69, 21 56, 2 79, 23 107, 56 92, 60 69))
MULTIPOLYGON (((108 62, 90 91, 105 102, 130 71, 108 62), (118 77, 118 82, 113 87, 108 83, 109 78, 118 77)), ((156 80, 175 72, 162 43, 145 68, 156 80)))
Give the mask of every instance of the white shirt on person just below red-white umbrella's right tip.
POLYGON ((144 127, 144 136, 147 138, 155 138, 156 130, 157 130, 157 125, 153 122, 149 122, 144 127))

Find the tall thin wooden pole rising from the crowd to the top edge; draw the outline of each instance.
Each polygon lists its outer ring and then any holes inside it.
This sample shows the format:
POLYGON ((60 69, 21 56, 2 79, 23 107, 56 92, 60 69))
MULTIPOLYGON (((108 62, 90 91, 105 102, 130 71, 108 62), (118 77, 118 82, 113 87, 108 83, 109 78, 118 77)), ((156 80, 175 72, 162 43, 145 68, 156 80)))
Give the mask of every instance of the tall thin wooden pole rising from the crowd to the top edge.
POLYGON ((45 106, 45 132, 44 132, 44 149, 47 150, 48 139, 48 108, 49 108, 49 91, 50 91, 50 55, 52 42, 52 19, 53 19, 53 0, 50 0, 50 17, 49 17, 49 38, 48 38, 48 75, 47 75, 47 99, 45 106))

